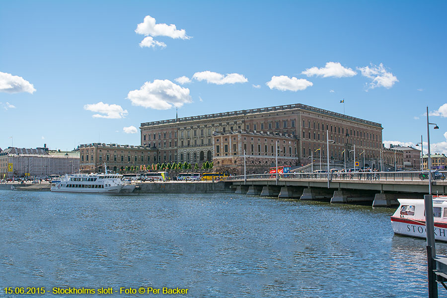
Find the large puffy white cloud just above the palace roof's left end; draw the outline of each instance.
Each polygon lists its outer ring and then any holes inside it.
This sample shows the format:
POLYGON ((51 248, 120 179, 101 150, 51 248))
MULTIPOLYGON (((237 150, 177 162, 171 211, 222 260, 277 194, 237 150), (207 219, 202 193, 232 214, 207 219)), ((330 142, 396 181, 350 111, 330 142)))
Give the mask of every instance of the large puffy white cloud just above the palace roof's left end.
POLYGON ((188 88, 182 88, 168 79, 154 79, 153 83, 145 82, 139 90, 132 90, 127 94, 132 105, 167 110, 172 106, 181 107, 191 103, 188 88))

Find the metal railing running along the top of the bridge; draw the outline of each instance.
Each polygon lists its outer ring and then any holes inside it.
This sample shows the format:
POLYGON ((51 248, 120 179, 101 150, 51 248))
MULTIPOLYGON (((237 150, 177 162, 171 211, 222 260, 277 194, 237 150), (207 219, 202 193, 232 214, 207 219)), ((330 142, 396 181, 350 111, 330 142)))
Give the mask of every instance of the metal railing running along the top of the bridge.
MULTIPOLYGON (((228 176, 225 181, 244 180, 244 175, 228 176)), ((250 174, 247 180, 275 180, 276 174, 250 174)), ((278 179, 310 179, 327 180, 327 173, 285 173, 278 174, 278 179)), ((331 181, 427 181, 428 172, 421 171, 397 171, 397 172, 333 172, 329 173, 331 181)), ((447 171, 432 172, 433 181, 447 181, 447 171)))

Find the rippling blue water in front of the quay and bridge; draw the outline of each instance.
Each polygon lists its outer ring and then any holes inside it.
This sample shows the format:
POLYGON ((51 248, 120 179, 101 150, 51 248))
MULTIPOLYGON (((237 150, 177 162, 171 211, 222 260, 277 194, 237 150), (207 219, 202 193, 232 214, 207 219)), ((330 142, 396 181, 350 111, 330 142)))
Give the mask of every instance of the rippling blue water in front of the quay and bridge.
MULTIPOLYGON (((393 235, 394 209, 234 194, 0 191, 0 210, 1 288, 427 297, 425 241, 393 235)), ((447 244, 437 248, 447 254, 447 244)), ((0 297, 11 296, 1 289, 0 297)))

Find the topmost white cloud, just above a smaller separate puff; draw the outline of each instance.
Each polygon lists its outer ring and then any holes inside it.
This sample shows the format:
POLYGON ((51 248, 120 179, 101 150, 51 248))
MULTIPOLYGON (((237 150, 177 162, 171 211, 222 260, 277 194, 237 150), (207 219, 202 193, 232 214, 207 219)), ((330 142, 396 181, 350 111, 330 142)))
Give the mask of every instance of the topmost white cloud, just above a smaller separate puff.
POLYGON ((137 25, 135 32, 146 36, 167 36, 170 38, 181 39, 190 38, 186 35, 185 29, 177 30, 177 27, 174 24, 156 24, 155 18, 151 17, 150 15, 145 17, 143 23, 137 25))

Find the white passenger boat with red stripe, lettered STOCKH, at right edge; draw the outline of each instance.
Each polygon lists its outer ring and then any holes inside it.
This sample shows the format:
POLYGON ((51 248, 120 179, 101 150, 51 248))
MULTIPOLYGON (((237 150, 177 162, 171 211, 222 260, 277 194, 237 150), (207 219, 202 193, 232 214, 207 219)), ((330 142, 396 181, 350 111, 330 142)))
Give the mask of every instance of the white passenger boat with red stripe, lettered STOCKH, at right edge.
MULTIPOLYGON (((398 199, 400 206, 391 216, 394 233, 426 238, 424 200, 398 199)), ((433 196, 435 239, 447 242, 447 196, 433 196)))

